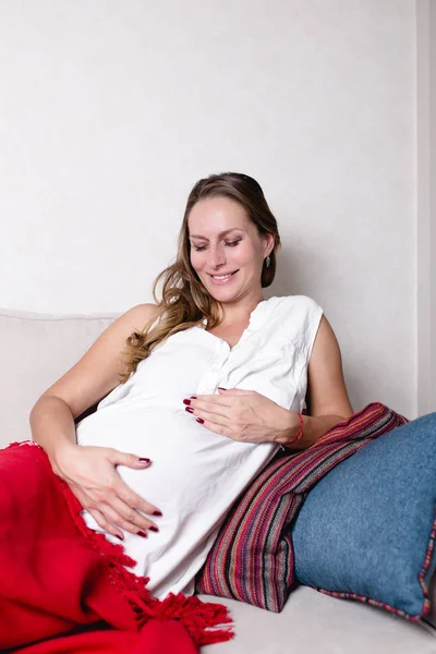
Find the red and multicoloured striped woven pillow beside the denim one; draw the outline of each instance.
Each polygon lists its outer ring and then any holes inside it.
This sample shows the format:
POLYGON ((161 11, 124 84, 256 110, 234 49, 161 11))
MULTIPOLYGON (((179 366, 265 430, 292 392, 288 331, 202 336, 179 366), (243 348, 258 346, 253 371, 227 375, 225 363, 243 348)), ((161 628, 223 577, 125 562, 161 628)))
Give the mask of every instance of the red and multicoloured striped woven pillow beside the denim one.
POLYGON ((308 491, 335 465, 407 420, 379 402, 308 449, 279 455, 230 509, 196 578, 196 592, 279 613, 296 583, 291 525, 308 491))

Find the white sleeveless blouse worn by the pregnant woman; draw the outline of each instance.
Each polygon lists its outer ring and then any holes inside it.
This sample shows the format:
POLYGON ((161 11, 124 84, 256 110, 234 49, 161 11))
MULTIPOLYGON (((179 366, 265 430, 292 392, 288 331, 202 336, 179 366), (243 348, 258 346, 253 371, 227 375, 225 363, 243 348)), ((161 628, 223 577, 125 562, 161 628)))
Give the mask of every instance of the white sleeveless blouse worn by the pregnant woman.
MULTIPOLYGON (((322 315, 304 295, 270 298, 252 312, 234 348, 202 327, 175 334, 78 423, 78 445, 112 447, 152 460, 145 470, 117 470, 162 511, 154 518, 158 533, 149 531, 143 538, 124 532, 123 541, 136 561, 133 571, 150 578, 155 596, 193 592, 194 577, 226 512, 278 447, 210 432, 185 411, 183 399, 217 393, 218 386, 242 388, 301 412, 322 315)), ((83 517, 90 529, 102 531, 87 511, 83 517)))

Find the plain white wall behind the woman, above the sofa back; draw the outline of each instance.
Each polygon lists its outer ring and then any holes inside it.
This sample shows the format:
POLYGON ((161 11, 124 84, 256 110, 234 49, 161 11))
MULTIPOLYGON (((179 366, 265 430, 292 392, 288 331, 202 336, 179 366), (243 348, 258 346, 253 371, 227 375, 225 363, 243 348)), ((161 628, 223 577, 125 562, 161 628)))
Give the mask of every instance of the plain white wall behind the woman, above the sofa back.
POLYGON ((150 300, 193 183, 264 187, 355 409, 416 412, 413 0, 2 0, 0 306, 150 300))

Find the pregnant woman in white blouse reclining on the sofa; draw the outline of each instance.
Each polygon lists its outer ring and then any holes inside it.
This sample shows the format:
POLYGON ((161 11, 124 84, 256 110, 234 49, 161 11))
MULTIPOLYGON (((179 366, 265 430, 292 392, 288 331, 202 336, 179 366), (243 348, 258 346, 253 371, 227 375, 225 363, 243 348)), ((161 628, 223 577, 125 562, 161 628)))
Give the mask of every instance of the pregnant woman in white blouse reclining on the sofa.
POLYGON ((226 512, 279 447, 352 414, 322 308, 263 296, 279 245, 254 179, 197 182, 162 299, 118 318, 32 411, 87 528, 122 543, 160 600, 193 593, 226 512))

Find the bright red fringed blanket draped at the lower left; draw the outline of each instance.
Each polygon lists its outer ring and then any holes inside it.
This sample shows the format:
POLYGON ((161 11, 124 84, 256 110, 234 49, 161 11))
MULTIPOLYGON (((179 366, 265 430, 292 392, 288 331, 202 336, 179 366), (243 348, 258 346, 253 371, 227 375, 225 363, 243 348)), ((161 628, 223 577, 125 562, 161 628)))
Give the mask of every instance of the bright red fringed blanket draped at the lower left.
POLYGON ((195 654, 232 637, 219 604, 152 597, 81 509, 41 448, 0 450, 0 651, 195 654))

